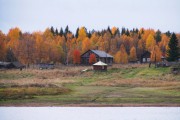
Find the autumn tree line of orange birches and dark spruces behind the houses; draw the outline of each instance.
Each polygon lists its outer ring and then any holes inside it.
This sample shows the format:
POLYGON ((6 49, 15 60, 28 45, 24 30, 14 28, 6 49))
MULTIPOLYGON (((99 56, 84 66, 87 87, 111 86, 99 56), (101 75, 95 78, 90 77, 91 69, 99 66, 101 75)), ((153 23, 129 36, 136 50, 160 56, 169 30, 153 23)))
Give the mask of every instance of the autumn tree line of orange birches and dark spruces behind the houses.
MULTIPOLYGON (((0 61, 20 61, 23 64, 62 63, 79 64, 80 55, 89 49, 105 51, 114 56, 115 63, 136 61, 145 51, 151 53, 151 61, 169 61, 179 58, 180 34, 154 29, 132 30, 108 27, 101 31, 77 28, 72 33, 54 27, 45 31, 22 33, 18 27, 7 34, 0 31, 0 61)), ((90 60, 92 63, 93 60, 90 60)))

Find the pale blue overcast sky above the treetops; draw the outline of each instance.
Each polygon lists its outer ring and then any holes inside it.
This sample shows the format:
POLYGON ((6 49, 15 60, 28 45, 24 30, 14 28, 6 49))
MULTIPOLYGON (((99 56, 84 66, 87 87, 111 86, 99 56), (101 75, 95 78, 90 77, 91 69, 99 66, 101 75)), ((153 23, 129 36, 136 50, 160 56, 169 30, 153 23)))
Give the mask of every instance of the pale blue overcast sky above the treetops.
POLYGON ((108 26, 153 28, 180 33, 180 0, 0 0, 0 30, 58 30, 67 25, 102 30, 108 26))

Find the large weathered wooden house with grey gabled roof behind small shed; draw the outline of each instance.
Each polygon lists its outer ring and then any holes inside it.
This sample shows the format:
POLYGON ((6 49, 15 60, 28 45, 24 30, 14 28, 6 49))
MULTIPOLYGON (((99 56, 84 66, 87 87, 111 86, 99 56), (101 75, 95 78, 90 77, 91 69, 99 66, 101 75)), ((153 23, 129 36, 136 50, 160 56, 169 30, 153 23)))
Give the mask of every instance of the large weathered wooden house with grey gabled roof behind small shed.
POLYGON ((113 56, 110 54, 100 51, 100 50, 88 50, 85 53, 81 55, 81 64, 89 64, 89 56, 91 54, 95 54, 96 56, 96 61, 102 61, 108 65, 112 65, 113 63, 113 56))

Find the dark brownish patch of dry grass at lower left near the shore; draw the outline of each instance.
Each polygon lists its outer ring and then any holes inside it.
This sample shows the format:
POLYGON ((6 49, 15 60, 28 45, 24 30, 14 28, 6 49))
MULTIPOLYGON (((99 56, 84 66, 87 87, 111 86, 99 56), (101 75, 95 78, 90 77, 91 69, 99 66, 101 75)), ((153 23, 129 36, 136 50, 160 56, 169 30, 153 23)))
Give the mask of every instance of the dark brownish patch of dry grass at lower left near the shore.
POLYGON ((36 87, 16 86, 8 87, 6 89, 0 89, 1 100, 7 99, 29 99, 36 95, 59 95, 70 92, 70 89, 63 87, 42 87, 42 85, 36 85, 36 87), (37 87, 41 86, 41 87, 37 87))

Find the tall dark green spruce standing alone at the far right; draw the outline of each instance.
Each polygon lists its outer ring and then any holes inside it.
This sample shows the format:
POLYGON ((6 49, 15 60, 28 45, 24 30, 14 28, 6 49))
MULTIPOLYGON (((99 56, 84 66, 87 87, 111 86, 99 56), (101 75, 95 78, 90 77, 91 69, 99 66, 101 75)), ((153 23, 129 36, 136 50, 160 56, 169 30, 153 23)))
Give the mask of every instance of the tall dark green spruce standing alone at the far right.
POLYGON ((179 48, 178 48, 178 39, 175 33, 172 34, 168 47, 169 47, 169 50, 167 50, 167 54, 168 54, 167 60, 168 61, 178 60, 179 48))

